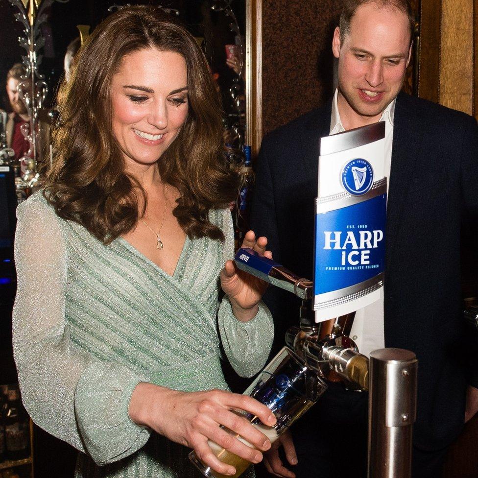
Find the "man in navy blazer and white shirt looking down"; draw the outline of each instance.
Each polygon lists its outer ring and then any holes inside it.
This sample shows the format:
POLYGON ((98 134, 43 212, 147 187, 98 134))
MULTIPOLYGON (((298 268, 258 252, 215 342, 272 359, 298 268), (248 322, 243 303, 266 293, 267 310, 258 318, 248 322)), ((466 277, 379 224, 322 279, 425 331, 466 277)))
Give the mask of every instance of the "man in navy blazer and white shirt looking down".
MULTIPOLYGON (((440 477, 448 445, 478 409, 478 360, 465 357, 460 284, 461 232, 478 220, 478 127, 464 114, 400 92, 413 16, 406 0, 346 0, 334 33, 333 100, 268 134, 256 168, 251 228, 274 260, 312 277, 314 198, 320 138, 388 122, 388 199, 382 346, 418 358, 413 477, 440 477)), ((387 158, 385 158, 386 169, 387 158)), ((300 302, 269 287, 277 350, 298 324, 300 302)), ((366 320, 366 317, 365 317, 366 320)), ((379 347, 377 347, 379 348, 379 347)), ((364 476, 365 394, 332 384, 283 440, 298 477, 364 476), (353 475, 352 475, 353 474, 353 475)), ((293 477, 277 455, 278 476, 293 477)))

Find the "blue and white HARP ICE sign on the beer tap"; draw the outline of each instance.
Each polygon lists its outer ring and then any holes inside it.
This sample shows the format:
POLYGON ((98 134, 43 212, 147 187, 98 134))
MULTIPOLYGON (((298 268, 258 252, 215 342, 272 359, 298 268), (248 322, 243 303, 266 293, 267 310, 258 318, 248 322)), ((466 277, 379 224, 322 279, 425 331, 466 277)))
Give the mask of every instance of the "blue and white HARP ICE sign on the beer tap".
POLYGON ((315 214, 315 322, 380 297, 385 267, 385 122, 320 141, 315 214))

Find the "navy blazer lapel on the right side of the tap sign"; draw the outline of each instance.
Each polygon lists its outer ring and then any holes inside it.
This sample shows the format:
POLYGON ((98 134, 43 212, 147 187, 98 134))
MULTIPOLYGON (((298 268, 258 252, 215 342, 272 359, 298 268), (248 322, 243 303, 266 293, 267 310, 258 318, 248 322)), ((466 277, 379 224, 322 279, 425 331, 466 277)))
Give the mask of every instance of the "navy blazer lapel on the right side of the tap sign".
POLYGON ((395 238, 403 219, 404 201, 413 178, 415 158, 421 147, 422 130, 417 112, 405 93, 397 96, 393 121, 392 161, 389 178, 386 226, 386 263, 389 263, 395 238))

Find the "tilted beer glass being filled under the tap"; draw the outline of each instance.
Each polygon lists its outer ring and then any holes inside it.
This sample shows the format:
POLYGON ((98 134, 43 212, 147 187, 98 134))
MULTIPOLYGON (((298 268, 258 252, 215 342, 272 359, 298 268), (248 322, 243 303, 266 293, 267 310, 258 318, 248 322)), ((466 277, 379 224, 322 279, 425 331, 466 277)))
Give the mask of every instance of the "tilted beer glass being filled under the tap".
MULTIPOLYGON (((295 420, 317 401, 326 389, 327 385, 317 376, 317 373, 298 358, 292 350, 284 347, 244 392, 244 395, 249 395, 270 408, 277 423, 274 427, 267 427, 251 413, 244 411, 240 411, 240 413, 266 435, 271 443, 274 443, 295 420)), ((253 448, 253 445, 237 433, 227 428, 225 430, 235 434, 242 443, 253 448)), ((251 465, 249 461, 229 452, 211 440, 208 441, 208 445, 222 462, 236 468, 236 474, 233 476, 221 475, 200 461, 192 451, 189 458, 205 477, 237 478, 251 465)))

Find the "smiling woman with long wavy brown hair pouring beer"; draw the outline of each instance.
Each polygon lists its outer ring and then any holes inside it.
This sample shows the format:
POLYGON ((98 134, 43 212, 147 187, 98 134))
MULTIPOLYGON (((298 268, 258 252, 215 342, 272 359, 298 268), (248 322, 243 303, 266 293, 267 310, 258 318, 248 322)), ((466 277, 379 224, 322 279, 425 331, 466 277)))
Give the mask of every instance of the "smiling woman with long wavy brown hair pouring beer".
POLYGON ((272 320, 265 285, 229 260, 237 176, 201 50, 158 10, 121 9, 58 103, 55 164, 18 209, 14 350, 30 416, 80 451, 78 477, 192 477, 186 447, 233 474, 208 439, 260 461, 270 442, 230 409, 275 418, 227 391, 220 345, 252 376, 272 320))

